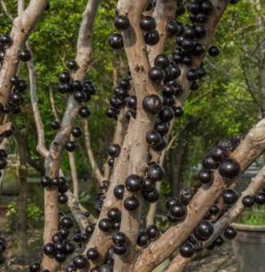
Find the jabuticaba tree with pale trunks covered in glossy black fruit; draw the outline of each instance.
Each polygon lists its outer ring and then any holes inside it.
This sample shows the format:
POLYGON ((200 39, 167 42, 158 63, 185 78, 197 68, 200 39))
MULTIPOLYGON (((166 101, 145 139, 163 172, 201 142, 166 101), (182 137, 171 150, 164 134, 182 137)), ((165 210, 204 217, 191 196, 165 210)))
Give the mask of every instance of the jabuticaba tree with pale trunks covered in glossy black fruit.
MULTIPOLYGON (((19 61, 31 63, 30 95, 38 134, 38 152, 45 158, 44 258, 29 265, 30 272, 150 272, 168 257, 165 272, 181 272, 203 248, 221 246, 236 236, 230 225, 245 208, 265 204, 264 169, 239 196, 233 183, 265 151, 265 120, 245 136, 222 140, 205 154, 198 173, 198 191, 186 189, 166 201, 166 231, 141 225, 143 207, 159 199, 165 177, 162 165, 174 124, 185 114, 183 105, 206 75, 203 59, 220 53, 212 39, 226 8, 237 0, 119 0, 109 45, 125 51, 128 75, 119 81, 110 98, 107 117, 117 119, 114 141, 108 148, 109 180, 102 182, 95 205, 95 219, 78 213, 78 202, 69 191, 61 170, 64 151, 74 152, 73 138, 83 130, 78 117, 91 113, 87 103, 97 91, 86 78, 91 58, 91 34, 99 0, 88 0, 80 25, 75 60, 58 75, 58 93, 67 97, 62 121, 52 122, 56 136, 46 148, 38 111, 32 53, 25 48, 28 35, 48 1, 31 1, 14 20, 11 35, 0 37, 0 136, 12 136, 8 115, 18 114, 27 84, 19 80, 19 61), (188 23, 179 18, 186 16, 188 23), (26 30, 26 31, 25 31, 26 30), (165 51, 166 44, 172 46, 165 51), (118 135, 118 136, 117 136, 118 135), (71 199, 70 199, 70 198, 71 199), (75 203, 75 208, 71 205, 75 203), (59 212, 59 204, 71 209, 73 218, 59 212), (70 236, 74 220, 80 225, 70 236), (222 238, 222 236, 224 238, 222 238), (73 237, 73 240, 70 238, 73 237), (77 251, 78 245, 83 252, 77 251), (64 265, 66 259, 70 265, 64 265)), ((49 9, 47 10, 49 12, 49 9)), ((0 151, 0 170, 7 166, 0 151)), ((0 238, 0 262, 6 243, 0 238)))

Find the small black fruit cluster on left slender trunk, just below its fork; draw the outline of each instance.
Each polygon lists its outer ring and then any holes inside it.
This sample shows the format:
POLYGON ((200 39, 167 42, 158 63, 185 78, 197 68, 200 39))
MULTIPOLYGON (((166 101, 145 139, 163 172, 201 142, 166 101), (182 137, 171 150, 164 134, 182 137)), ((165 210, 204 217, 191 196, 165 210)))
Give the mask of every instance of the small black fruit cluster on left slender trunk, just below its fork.
POLYGON ((66 195, 66 192, 68 191, 69 187, 67 184, 66 179, 61 177, 56 177, 54 179, 50 178, 49 176, 43 176, 40 180, 40 183, 43 187, 51 188, 56 187, 58 188, 58 202, 60 204, 66 204, 68 201, 68 197, 66 195))

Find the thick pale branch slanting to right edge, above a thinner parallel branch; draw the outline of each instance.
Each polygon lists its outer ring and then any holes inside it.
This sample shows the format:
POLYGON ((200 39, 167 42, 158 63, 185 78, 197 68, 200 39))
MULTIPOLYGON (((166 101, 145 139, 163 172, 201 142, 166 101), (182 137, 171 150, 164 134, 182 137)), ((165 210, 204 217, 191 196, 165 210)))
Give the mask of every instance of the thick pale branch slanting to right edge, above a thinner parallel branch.
MULTIPOLYGON (((241 142, 231 157, 236 160, 243 172, 265 151, 265 119, 258 122, 241 142)), ((147 272, 171 255, 190 235, 209 207, 219 198, 229 184, 215 172, 211 186, 202 186, 187 207, 185 221, 170 227, 162 238, 150 244, 139 256, 135 271, 147 272)))

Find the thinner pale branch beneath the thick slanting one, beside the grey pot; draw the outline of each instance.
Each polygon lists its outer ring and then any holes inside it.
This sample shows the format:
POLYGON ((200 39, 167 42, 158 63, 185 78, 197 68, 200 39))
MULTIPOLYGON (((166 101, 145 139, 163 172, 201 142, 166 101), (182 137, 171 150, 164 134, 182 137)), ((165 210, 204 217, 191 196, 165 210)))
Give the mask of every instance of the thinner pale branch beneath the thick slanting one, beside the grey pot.
MULTIPOLYGON (((245 211, 246 207, 242 203, 244 196, 254 196, 264 185, 265 166, 255 177, 251 179, 249 186, 241 194, 236 204, 234 204, 234 206, 215 223, 215 232, 206 242, 203 243, 203 248, 212 244, 216 238, 218 238, 224 232, 224 230, 245 211)), ((196 255, 192 256, 191 258, 183 258, 180 254, 178 254, 163 272, 182 272, 195 257, 196 255)))

